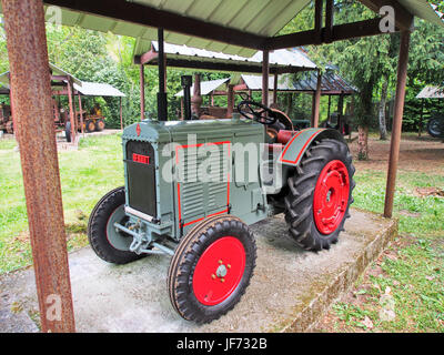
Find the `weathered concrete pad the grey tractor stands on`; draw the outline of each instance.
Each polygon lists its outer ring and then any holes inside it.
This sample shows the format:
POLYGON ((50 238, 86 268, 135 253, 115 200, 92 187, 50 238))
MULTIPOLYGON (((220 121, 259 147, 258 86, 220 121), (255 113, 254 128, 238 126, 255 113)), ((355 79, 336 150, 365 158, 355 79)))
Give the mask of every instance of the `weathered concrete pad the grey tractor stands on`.
MULTIPOLYGON (((357 210, 351 214, 340 242, 320 253, 294 245, 282 214, 252 225, 258 260, 251 284, 233 311, 206 325, 186 322, 173 311, 167 291, 170 257, 152 255, 115 266, 90 247, 71 253, 77 331, 310 331, 397 233, 395 221, 357 210)), ((32 268, 0 276, 0 332, 37 331, 32 268)))

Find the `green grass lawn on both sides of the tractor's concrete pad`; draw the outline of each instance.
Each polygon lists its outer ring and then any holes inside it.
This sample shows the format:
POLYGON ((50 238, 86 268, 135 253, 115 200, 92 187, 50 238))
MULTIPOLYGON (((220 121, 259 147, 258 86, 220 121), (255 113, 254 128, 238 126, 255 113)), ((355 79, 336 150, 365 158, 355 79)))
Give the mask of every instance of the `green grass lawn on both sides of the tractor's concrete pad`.
MULTIPOLYGON (((13 140, 0 141, 0 273, 32 263, 20 158, 13 140)), ((87 245, 89 213, 123 184, 120 134, 87 136, 79 150, 59 152, 68 247, 87 245)), ((433 164, 433 162, 431 162, 433 164)), ((382 213, 385 171, 359 168, 354 206, 382 213)), ((395 216, 400 237, 336 303, 319 331, 444 332, 444 166, 398 172, 395 216), (384 313, 385 312, 385 313, 384 313)))

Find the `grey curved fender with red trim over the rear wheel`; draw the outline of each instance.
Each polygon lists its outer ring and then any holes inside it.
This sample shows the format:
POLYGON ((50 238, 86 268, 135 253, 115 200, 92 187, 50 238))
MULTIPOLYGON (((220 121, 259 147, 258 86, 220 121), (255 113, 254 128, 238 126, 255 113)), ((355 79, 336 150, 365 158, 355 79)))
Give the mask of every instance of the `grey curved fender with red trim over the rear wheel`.
POLYGON ((283 165, 297 166, 304 156, 304 153, 309 150, 310 145, 315 140, 333 139, 340 142, 346 143, 340 132, 332 129, 305 129, 299 131, 292 136, 292 139, 285 144, 280 154, 278 162, 283 165))

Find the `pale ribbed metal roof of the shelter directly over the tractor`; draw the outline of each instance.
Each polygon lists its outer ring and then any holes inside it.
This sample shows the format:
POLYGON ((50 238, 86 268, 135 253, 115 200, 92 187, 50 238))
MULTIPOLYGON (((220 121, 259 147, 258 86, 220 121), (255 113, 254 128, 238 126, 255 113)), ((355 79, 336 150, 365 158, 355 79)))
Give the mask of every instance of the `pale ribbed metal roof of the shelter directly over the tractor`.
MULTIPOLYGON (((375 11, 380 8, 377 6, 380 1, 359 1, 375 11)), ((164 27, 165 42, 251 57, 256 50, 262 49, 263 39, 276 36, 310 3, 310 0, 44 0, 43 2, 47 6, 61 8, 60 16, 56 19, 62 24, 137 38, 139 53, 149 50, 150 41, 157 39, 157 28, 164 27), (199 21, 199 28, 192 26, 196 23, 195 21, 199 21), (213 39, 208 39, 209 29, 212 30, 213 39), (239 36, 235 37, 235 33, 239 36)), ((411 14, 444 26, 426 0, 394 2, 411 14)), ((54 20, 54 13, 57 11, 48 11, 47 20, 54 20)))

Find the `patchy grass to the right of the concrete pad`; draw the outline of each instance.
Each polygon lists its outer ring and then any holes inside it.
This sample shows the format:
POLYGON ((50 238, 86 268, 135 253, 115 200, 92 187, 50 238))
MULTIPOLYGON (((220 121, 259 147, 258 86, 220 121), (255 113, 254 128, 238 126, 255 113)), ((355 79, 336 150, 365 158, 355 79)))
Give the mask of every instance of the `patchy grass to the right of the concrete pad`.
MULTIPOLYGON (((395 197, 400 236, 319 325, 319 332, 444 332, 444 175, 401 172, 395 197)), ((385 174, 356 175, 355 206, 382 213, 385 174)))

